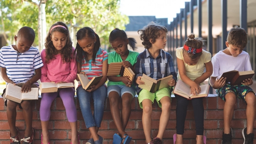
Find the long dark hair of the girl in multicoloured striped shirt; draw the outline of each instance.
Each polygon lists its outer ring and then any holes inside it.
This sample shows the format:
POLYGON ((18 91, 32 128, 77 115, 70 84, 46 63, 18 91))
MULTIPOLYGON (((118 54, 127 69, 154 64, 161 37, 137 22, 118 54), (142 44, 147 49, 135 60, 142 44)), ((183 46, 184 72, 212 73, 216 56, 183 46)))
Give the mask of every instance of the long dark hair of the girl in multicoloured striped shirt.
MULTIPOLYGON (((90 27, 83 27, 77 31, 77 41, 82 40, 86 37, 89 37, 91 39, 96 38, 96 42, 93 48, 93 56, 92 56, 92 62, 95 62, 97 51, 101 47, 100 37, 90 27)), ((85 54, 85 51, 83 51, 83 49, 80 47, 78 43, 77 43, 75 52, 77 53, 77 56, 76 56, 77 63, 82 65, 83 59, 86 57, 86 54, 85 54)))

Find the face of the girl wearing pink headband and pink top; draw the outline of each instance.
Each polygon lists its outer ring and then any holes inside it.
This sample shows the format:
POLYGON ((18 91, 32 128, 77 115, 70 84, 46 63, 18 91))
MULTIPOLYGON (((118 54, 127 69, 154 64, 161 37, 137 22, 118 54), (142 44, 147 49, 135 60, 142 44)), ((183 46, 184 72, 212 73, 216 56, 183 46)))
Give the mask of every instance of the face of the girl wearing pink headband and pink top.
POLYGON ((57 50, 61 50, 63 49, 66 44, 67 44, 67 35, 62 33, 62 32, 58 32, 58 31, 54 31, 51 34, 51 41, 53 43, 53 46, 57 49, 57 50))

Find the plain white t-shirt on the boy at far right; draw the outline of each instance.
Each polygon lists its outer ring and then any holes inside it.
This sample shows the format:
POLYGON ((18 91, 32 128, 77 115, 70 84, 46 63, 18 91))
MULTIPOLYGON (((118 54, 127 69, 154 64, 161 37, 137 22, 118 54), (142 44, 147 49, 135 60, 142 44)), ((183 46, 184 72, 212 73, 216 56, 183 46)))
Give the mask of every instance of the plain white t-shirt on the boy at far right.
POLYGON ((212 77, 219 79, 224 72, 229 71, 252 71, 250 55, 242 51, 237 57, 228 55, 220 50, 212 57, 213 73, 212 77))

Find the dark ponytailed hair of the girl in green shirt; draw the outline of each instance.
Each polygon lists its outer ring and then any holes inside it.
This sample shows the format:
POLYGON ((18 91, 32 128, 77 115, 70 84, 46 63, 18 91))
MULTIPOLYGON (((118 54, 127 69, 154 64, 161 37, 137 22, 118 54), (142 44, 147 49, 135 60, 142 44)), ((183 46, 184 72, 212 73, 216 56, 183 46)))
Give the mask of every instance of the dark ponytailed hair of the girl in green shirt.
POLYGON ((135 50, 137 48, 136 47, 136 44, 137 44, 136 40, 134 38, 128 38, 127 34, 124 30, 115 28, 114 30, 112 30, 110 32, 109 37, 108 37, 109 43, 112 43, 116 40, 126 41, 127 39, 128 39, 129 46, 132 48, 132 50, 135 50))

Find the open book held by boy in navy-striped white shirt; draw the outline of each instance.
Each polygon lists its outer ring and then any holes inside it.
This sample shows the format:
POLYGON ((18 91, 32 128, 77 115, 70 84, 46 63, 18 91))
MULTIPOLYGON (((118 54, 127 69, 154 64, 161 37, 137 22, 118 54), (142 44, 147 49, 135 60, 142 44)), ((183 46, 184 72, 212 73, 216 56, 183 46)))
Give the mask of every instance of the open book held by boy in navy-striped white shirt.
POLYGON ((21 103, 22 100, 38 99, 38 88, 31 88, 30 92, 22 93, 21 87, 8 83, 6 85, 6 91, 4 97, 6 99, 21 103))

